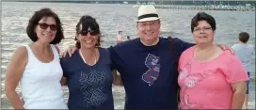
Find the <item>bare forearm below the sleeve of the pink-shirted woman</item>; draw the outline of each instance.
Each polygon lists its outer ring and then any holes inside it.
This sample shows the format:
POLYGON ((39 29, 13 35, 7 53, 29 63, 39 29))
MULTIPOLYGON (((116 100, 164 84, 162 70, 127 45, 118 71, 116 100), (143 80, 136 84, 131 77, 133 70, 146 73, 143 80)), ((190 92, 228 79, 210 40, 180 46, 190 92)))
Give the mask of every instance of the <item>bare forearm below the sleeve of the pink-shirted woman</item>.
POLYGON ((242 109, 247 91, 246 82, 232 83, 232 91, 232 109, 242 109))

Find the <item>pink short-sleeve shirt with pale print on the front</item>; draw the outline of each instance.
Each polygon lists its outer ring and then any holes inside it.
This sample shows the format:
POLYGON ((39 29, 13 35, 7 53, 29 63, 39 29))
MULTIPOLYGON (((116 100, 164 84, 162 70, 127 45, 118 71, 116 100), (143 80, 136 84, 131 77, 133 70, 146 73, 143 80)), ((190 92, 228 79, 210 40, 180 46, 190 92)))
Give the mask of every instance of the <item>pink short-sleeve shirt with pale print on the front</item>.
POLYGON ((179 86, 182 109, 231 109, 232 83, 248 80, 247 71, 229 50, 209 62, 194 58, 193 46, 181 55, 179 86))

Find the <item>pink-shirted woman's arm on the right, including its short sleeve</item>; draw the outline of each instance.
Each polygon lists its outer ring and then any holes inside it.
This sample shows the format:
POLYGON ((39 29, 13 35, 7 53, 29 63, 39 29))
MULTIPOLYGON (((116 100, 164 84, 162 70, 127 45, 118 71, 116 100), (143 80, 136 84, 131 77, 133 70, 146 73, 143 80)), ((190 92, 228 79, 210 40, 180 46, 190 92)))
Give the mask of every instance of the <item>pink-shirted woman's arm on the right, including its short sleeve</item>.
POLYGON ((231 109, 242 109, 246 96, 248 73, 236 55, 232 55, 230 51, 224 51, 224 53, 225 58, 222 60, 225 65, 222 65, 222 70, 227 82, 232 86, 231 109))

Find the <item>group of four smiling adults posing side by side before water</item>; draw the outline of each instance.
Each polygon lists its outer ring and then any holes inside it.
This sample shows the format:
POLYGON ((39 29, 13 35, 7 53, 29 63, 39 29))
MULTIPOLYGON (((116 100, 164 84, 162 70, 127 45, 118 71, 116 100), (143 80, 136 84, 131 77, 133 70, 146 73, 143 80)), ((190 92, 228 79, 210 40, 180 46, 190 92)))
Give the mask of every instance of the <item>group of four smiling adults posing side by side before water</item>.
POLYGON ((75 47, 59 59, 55 44, 63 29, 56 13, 42 8, 26 28, 33 42, 19 47, 8 64, 8 101, 15 109, 114 109, 114 84, 125 88, 125 109, 241 109, 248 74, 236 55, 214 44, 215 19, 204 12, 192 18, 196 44, 161 38, 160 26, 156 9, 141 6, 139 38, 102 48, 99 24, 82 16, 75 47), (24 105, 15 91, 19 82, 24 105))

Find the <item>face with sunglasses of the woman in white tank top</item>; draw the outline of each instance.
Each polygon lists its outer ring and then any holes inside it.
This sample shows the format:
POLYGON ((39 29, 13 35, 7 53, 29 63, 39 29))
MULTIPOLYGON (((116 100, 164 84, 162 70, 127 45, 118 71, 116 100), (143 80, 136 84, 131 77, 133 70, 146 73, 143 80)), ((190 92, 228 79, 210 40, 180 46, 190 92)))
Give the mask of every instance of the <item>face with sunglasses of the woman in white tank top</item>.
POLYGON ((50 43, 56 38, 56 20, 53 17, 43 17, 37 24, 35 32, 40 41, 50 43))

